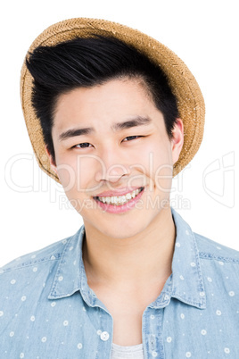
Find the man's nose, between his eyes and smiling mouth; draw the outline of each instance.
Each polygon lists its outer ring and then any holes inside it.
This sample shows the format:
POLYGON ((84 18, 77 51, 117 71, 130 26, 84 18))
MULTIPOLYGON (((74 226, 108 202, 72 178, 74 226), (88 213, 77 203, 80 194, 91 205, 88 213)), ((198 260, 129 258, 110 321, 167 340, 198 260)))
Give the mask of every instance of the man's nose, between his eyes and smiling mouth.
POLYGON ((105 150, 101 154, 101 168, 95 172, 95 180, 100 182, 106 180, 111 183, 116 183, 123 176, 128 176, 130 169, 126 164, 124 156, 120 155, 117 151, 110 149, 105 150))

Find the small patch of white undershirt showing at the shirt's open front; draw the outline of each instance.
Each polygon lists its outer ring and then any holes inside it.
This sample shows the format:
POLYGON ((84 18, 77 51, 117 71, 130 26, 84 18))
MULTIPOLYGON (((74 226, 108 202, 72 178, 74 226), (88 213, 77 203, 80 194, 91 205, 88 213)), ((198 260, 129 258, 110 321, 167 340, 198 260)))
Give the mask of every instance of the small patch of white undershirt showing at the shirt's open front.
POLYGON ((144 359, 143 344, 138 344, 137 346, 112 344, 111 359, 144 359))

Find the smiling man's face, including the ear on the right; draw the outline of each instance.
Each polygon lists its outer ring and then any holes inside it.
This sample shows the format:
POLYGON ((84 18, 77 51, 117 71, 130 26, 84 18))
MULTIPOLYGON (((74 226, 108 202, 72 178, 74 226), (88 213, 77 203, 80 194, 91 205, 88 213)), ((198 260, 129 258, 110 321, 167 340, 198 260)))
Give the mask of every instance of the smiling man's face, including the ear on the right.
POLYGON ((169 209, 182 122, 169 140, 163 116, 142 82, 113 79, 59 97, 54 171, 88 232, 128 238, 150 230, 169 209))

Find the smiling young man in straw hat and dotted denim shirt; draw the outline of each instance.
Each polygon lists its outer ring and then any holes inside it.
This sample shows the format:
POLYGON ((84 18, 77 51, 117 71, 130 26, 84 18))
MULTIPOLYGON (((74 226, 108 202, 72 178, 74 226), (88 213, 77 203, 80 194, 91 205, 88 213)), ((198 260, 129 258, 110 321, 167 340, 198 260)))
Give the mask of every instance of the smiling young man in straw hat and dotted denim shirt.
POLYGON ((239 357, 238 252, 169 205, 202 141, 185 64, 136 30, 72 19, 30 47, 21 96, 37 161, 84 227, 1 270, 1 358, 239 357))

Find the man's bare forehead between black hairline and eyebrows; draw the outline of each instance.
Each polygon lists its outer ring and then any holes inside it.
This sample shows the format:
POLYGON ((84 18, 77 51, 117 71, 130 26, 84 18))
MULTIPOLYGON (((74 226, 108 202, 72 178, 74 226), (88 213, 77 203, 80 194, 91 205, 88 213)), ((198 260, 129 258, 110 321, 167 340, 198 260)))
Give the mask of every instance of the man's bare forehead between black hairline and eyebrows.
POLYGON ((139 79, 111 79, 92 88, 76 88, 59 96, 54 127, 65 129, 78 124, 112 127, 125 119, 151 118, 160 113, 139 79))

